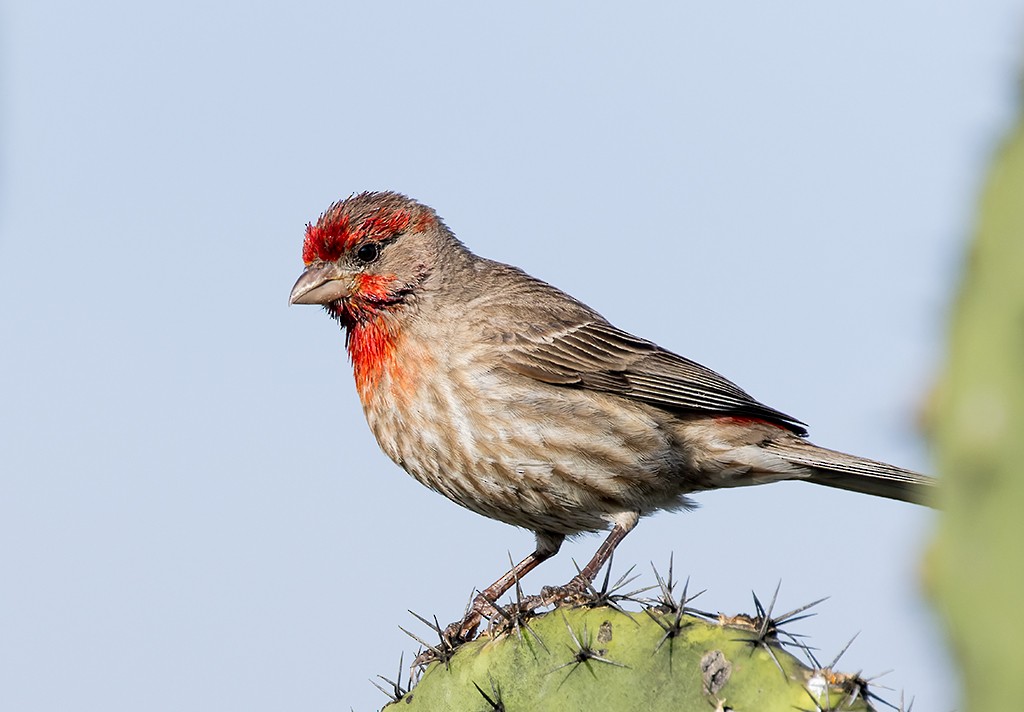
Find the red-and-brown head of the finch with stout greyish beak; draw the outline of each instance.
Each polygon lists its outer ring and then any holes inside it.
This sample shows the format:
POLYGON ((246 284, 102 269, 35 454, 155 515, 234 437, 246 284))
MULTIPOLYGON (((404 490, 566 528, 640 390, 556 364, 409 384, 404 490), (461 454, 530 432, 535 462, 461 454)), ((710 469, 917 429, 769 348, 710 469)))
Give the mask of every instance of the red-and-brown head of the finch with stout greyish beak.
POLYGON ((306 268, 289 301, 322 304, 348 328, 394 312, 417 296, 451 241, 436 213, 406 196, 352 196, 306 225, 306 268))

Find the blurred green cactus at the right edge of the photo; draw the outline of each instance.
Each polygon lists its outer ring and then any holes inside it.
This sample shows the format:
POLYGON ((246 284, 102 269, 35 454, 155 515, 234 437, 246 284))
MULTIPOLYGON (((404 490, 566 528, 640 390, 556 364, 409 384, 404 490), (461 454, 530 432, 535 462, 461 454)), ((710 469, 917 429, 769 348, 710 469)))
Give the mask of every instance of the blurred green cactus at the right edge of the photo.
POLYGON ((931 589, 964 674, 967 709, 1024 699, 1024 120, 982 195, 952 317, 934 439, 943 515, 931 589))

